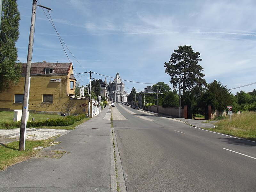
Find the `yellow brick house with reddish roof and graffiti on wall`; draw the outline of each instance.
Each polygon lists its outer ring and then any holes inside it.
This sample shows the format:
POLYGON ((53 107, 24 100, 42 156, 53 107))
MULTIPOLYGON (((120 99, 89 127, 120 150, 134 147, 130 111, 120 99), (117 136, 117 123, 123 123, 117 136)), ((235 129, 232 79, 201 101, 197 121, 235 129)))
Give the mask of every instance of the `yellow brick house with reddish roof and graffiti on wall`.
MULTIPOLYGON (((17 85, 0 93, 0 110, 21 110, 26 63, 17 85)), ((30 113, 88 113, 88 99, 74 99, 76 78, 72 63, 31 63, 28 110, 30 113)))

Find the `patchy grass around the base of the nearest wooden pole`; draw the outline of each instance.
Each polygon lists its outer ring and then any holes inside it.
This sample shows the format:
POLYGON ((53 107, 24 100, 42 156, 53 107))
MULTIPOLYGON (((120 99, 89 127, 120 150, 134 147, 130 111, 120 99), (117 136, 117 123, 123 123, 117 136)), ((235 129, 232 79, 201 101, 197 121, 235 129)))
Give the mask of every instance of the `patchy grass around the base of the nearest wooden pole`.
POLYGON ((25 151, 19 151, 19 141, 14 141, 7 144, 0 145, 0 170, 6 167, 19 163, 35 156, 38 150, 34 150, 38 146, 48 147, 51 146, 55 138, 47 140, 26 140, 25 151))

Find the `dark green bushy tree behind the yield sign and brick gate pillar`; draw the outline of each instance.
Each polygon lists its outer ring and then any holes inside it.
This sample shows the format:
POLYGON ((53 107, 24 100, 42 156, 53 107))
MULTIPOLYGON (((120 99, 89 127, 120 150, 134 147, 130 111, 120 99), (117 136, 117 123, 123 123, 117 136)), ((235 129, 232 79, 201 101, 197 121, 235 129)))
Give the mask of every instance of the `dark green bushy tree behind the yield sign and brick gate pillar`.
POLYGON ((222 86, 216 80, 207 85, 203 100, 205 105, 211 104, 212 109, 219 112, 225 111, 227 106, 235 105, 235 97, 229 92, 227 86, 222 86))

